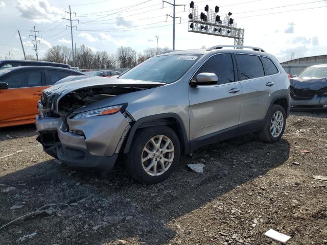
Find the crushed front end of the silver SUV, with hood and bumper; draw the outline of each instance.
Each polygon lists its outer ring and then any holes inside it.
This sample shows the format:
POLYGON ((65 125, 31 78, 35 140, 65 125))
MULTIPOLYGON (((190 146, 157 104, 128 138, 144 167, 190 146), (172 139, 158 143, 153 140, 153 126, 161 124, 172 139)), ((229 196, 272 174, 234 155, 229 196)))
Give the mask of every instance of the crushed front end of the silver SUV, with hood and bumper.
POLYGON ((46 153, 69 166, 112 168, 134 119, 127 103, 111 105, 110 98, 162 84, 108 80, 93 77, 43 91, 36 128, 46 153))

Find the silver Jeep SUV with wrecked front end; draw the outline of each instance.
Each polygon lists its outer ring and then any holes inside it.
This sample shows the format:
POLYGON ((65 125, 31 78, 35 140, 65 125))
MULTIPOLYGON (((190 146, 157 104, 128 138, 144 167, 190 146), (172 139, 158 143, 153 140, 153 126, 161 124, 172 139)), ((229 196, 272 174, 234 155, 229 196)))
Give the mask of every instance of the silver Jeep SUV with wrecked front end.
POLYGON ((290 109, 285 71, 255 47, 168 52, 119 78, 67 80, 45 89, 38 104, 44 151, 102 173, 122 156, 144 183, 166 180, 180 154, 206 144, 250 132, 276 142, 290 109))

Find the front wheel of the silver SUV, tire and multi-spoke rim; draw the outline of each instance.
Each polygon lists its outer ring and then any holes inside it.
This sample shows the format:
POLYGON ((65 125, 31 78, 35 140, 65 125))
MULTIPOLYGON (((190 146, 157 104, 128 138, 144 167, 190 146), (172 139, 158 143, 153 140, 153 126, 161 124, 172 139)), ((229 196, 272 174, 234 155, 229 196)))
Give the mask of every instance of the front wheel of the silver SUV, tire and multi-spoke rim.
POLYGON ((125 166, 129 175, 135 180, 145 184, 156 184, 166 180, 172 174, 179 157, 180 143, 176 133, 167 126, 149 127, 136 131, 125 166), (158 145, 160 138, 161 143, 158 149, 151 139, 158 145), (161 153, 166 144, 167 152, 161 153))

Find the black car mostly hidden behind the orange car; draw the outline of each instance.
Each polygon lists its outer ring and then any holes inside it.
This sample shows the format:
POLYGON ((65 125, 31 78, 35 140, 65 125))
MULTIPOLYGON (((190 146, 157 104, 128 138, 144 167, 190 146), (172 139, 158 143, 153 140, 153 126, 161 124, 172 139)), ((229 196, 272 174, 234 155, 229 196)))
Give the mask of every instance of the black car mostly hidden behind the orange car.
POLYGON ((36 61, 36 60, 0 60, 0 69, 7 69, 10 67, 16 66, 31 66, 31 65, 38 65, 38 66, 55 66, 55 67, 62 67, 71 69, 70 65, 62 64, 62 63, 55 63, 49 61, 36 61))

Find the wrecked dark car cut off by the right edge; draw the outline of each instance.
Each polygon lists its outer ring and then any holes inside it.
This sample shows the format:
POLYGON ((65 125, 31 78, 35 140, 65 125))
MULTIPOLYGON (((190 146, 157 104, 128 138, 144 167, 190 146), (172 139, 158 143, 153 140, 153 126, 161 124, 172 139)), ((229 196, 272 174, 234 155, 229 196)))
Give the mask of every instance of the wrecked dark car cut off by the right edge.
POLYGON ((290 83, 292 110, 327 109, 327 64, 309 66, 290 83))

